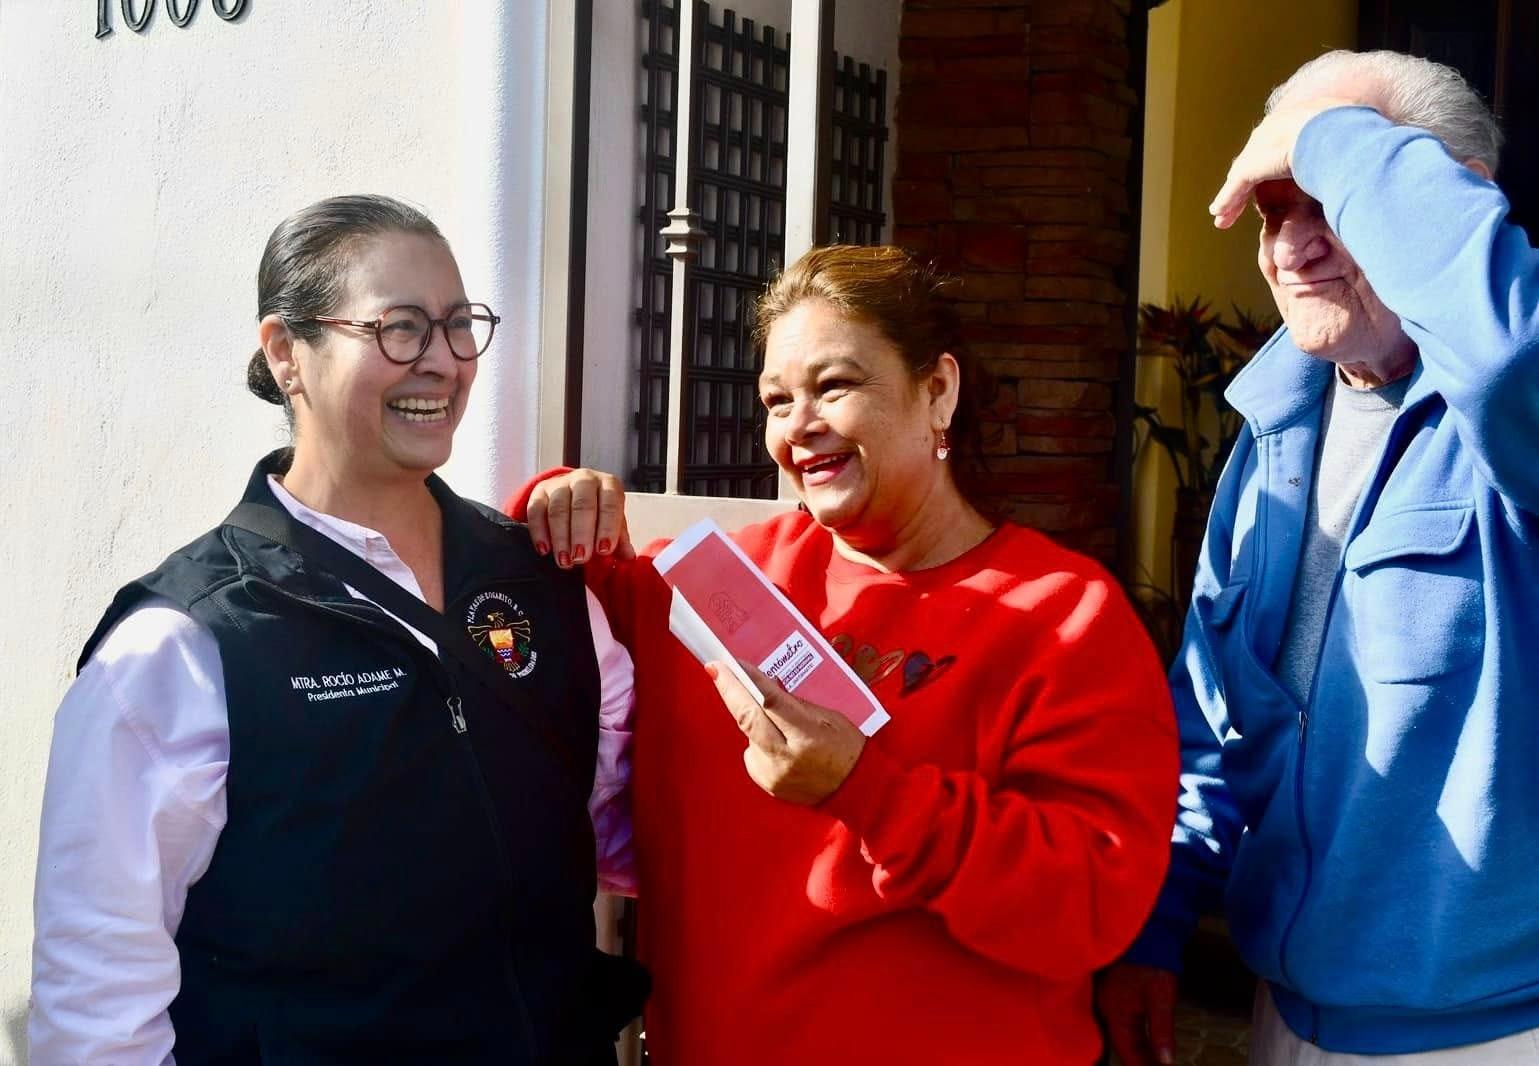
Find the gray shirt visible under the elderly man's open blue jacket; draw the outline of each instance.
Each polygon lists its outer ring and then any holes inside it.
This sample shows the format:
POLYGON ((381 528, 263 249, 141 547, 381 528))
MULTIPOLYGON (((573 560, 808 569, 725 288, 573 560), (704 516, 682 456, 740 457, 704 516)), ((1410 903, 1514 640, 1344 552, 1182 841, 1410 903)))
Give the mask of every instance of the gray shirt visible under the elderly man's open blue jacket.
POLYGON ((1331 377, 1320 415, 1299 575, 1276 665, 1277 680, 1300 706, 1308 703, 1320 660, 1325 615, 1342 568, 1347 528, 1410 383, 1410 377, 1402 377, 1377 389, 1354 389, 1340 380, 1340 374, 1331 377))

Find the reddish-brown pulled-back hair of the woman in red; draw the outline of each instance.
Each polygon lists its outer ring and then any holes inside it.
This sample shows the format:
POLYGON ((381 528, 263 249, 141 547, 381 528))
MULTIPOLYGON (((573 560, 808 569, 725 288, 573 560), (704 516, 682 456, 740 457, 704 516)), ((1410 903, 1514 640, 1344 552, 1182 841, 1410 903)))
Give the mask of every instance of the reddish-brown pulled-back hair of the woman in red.
POLYGON ((910 374, 928 374, 950 352, 962 369, 957 408, 946 434, 951 474, 963 498, 985 514, 980 408, 990 380, 962 343, 962 320, 946 295, 957 278, 896 245, 825 245, 785 268, 754 306, 754 341, 763 349, 770 328, 803 300, 823 300, 850 318, 876 326, 897 348, 910 374))

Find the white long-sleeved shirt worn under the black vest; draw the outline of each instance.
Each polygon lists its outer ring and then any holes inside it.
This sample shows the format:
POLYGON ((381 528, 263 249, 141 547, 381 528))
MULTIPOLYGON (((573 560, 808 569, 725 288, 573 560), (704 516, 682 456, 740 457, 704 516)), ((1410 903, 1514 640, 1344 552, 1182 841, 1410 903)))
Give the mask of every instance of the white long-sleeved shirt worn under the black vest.
MULTIPOLYGON (((306 508, 275 478, 268 483, 294 518, 422 598, 383 535, 306 508)), ((588 617, 602 678, 588 803, 599 883, 631 894, 623 794, 633 665, 591 592, 588 617)), ((174 937, 188 888, 208 869, 225 828, 228 765, 219 645, 169 600, 146 600, 97 645, 54 720, 34 897, 32 1066, 174 1064, 168 1009, 182 977, 174 937)))

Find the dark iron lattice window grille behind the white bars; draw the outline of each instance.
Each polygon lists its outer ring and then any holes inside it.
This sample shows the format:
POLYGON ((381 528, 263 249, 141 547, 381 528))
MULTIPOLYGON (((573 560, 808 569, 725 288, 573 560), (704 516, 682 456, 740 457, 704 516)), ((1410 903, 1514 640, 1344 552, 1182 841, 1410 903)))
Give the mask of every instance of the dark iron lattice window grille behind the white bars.
MULTIPOLYGON (((629 488, 662 492, 668 452, 668 332, 673 263, 659 231, 674 203, 674 111, 679 98, 679 3, 642 3, 642 140, 646 149, 637 220, 645 257, 633 337, 640 366, 629 488)), ((694 321, 683 391, 683 472, 689 495, 774 498, 776 466, 763 448, 760 355, 749 331, 759 291, 785 251, 785 166, 790 37, 694 0, 689 202, 705 238, 689 269, 694 321)), ((882 171, 888 140, 886 72, 834 57, 830 115, 830 234, 836 242, 882 238, 882 171)))

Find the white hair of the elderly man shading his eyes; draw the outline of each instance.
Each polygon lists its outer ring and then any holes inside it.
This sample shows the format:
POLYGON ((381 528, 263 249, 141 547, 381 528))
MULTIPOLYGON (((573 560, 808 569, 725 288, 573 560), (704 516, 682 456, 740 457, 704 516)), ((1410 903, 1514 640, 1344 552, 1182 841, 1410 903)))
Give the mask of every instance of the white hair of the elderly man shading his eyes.
POLYGON ((1270 114, 1284 97, 1304 88, 1327 91, 1344 78, 1370 78, 1382 92, 1385 118, 1417 126, 1442 142, 1461 163, 1476 158, 1496 174, 1502 128, 1481 95, 1451 66, 1400 52, 1337 49, 1310 60, 1267 97, 1270 114))

